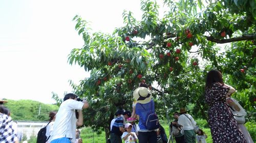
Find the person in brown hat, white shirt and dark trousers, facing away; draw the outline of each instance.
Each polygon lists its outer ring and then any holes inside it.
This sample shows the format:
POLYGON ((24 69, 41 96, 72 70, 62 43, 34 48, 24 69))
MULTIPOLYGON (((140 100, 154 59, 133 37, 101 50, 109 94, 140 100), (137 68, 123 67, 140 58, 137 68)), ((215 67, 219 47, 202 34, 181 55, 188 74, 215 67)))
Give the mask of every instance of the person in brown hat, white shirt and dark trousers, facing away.
POLYGON ((187 143, 196 143, 196 133, 194 127, 197 125, 191 115, 189 115, 185 108, 180 108, 180 116, 178 124, 182 126, 181 133, 184 132, 184 138, 187 143))

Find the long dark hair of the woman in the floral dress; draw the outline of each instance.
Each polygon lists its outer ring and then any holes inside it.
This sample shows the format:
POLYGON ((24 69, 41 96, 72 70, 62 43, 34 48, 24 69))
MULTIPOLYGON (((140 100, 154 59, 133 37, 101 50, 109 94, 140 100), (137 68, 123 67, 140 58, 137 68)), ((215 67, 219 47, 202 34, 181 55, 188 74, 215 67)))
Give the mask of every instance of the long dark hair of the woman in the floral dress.
POLYGON ((218 71, 218 70, 211 70, 211 71, 209 71, 207 76, 206 76, 205 89, 211 88, 212 84, 214 84, 216 82, 224 84, 221 72, 218 71))

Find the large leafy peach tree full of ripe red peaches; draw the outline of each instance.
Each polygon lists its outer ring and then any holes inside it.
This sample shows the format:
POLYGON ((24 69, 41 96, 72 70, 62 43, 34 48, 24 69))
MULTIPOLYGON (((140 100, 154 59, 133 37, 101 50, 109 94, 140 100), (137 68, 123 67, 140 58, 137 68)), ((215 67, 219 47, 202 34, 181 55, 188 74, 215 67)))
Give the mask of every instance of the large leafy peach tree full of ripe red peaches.
POLYGON ((71 84, 90 101, 85 125, 104 130, 106 138, 116 109, 132 110, 140 82, 152 91, 162 119, 180 107, 207 118, 204 80, 211 69, 220 70, 239 92, 246 91, 244 102, 255 105, 255 1, 165 0, 164 5, 167 11, 159 18, 156 2, 141 1, 141 20, 124 11, 125 26, 113 34, 92 33, 86 20, 74 17, 84 45, 71 51, 69 62, 90 77, 71 84))

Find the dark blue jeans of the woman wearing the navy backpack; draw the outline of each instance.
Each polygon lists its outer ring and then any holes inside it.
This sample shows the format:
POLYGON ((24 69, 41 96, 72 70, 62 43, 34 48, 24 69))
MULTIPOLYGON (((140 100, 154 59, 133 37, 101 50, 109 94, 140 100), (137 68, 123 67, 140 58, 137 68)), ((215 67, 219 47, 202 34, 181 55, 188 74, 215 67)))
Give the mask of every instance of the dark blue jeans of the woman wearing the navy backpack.
POLYGON ((139 143, 156 143, 157 142, 157 132, 139 132, 139 143))

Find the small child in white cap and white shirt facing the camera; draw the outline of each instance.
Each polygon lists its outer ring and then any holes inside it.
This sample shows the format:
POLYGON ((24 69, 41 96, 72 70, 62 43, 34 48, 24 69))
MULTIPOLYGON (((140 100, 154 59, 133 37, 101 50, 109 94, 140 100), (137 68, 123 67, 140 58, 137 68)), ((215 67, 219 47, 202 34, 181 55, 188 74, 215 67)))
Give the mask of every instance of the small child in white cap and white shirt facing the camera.
POLYGON ((133 125, 131 123, 125 124, 125 132, 123 132, 122 139, 125 143, 135 143, 138 139, 135 132, 132 132, 133 125))

